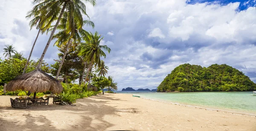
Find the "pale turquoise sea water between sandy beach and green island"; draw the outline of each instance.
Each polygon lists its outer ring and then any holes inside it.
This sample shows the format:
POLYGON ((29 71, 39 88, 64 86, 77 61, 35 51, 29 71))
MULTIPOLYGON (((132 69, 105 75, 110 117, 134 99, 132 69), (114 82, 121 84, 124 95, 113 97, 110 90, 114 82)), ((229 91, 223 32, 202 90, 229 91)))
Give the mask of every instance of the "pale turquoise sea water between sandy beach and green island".
POLYGON ((142 98, 164 102, 256 113, 256 96, 252 94, 253 92, 134 93, 142 98))

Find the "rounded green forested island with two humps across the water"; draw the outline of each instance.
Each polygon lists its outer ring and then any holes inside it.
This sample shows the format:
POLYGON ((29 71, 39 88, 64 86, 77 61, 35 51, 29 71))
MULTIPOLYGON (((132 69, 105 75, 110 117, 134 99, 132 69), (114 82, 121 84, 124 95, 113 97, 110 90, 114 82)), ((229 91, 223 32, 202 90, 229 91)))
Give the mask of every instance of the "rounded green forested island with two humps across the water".
POLYGON ((158 92, 253 91, 256 84, 243 72, 227 64, 209 67, 182 64, 157 87, 158 92))

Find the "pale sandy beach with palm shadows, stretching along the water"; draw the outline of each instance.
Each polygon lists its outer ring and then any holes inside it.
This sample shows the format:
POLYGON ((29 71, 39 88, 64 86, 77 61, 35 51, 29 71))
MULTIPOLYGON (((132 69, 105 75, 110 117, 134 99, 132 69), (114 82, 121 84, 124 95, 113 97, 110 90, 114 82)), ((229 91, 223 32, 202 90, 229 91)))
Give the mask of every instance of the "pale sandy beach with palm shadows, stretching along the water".
POLYGON ((14 109, 0 96, 0 131, 256 131, 256 117, 105 94, 78 99, 76 106, 14 109))

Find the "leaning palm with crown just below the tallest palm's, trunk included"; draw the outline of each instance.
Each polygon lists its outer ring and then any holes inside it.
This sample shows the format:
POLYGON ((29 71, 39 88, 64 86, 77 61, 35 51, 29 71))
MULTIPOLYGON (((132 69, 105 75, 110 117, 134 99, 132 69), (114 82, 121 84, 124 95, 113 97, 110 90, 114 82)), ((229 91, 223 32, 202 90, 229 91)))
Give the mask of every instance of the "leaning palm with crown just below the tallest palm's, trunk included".
POLYGON ((94 28, 94 23, 89 20, 85 20, 84 22, 81 23, 81 22, 79 22, 80 21, 79 18, 70 20, 70 18, 67 16, 68 16, 68 13, 64 12, 64 15, 63 15, 64 18, 61 19, 61 25, 58 26, 58 28, 63 29, 63 31, 60 31, 55 36, 53 36, 53 38, 57 38, 57 41, 55 42, 54 45, 57 45, 58 47, 67 45, 66 50, 65 50, 64 55, 61 60, 61 64, 59 65, 59 68, 58 68, 56 79, 58 79, 59 73, 61 72, 61 67, 62 67, 65 57, 67 55, 67 50, 71 43, 71 40, 73 39, 73 41, 81 42, 79 31, 83 31, 83 29, 82 29, 83 25, 87 24, 94 28), (75 21, 74 22, 75 26, 73 26, 72 28, 67 26, 67 22, 73 22, 73 21, 75 21), (78 24, 82 24, 82 25, 78 25, 78 24), (67 28, 67 27, 69 27, 69 28, 67 28))

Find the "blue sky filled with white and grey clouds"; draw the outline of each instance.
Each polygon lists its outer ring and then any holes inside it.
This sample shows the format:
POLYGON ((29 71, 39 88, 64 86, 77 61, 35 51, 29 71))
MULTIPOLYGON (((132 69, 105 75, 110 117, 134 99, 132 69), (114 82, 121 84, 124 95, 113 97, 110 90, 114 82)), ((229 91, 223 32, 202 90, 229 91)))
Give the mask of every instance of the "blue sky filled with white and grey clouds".
MULTIPOLYGON (((29 55, 37 31, 25 16, 33 0, 0 0, 0 56, 4 45, 29 55)), ((87 14, 111 48, 105 59, 118 88, 155 89, 180 64, 228 64, 256 82, 256 0, 97 0, 87 14)), ((85 18, 85 17, 84 17, 85 18)), ((41 35, 32 59, 49 36, 41 35)), ((57 59, 51 43, 44 58, 57 59)), ((2 57, 3 59, 3 57, 2 57)))

